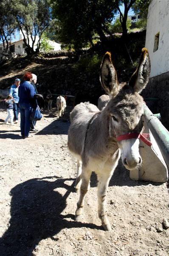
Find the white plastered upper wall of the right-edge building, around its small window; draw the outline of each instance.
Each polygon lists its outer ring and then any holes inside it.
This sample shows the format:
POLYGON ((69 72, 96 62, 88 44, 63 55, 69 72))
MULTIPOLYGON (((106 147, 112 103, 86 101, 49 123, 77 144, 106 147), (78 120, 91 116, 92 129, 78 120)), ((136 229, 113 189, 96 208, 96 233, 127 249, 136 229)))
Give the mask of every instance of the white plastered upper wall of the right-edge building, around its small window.
POLYGON ((146 48, 151 61, 150 77, 169 71, 169 0, 152 0, 149 5, 146 48), (159 32, 158 49, 154 51, 155 35, 159 32))

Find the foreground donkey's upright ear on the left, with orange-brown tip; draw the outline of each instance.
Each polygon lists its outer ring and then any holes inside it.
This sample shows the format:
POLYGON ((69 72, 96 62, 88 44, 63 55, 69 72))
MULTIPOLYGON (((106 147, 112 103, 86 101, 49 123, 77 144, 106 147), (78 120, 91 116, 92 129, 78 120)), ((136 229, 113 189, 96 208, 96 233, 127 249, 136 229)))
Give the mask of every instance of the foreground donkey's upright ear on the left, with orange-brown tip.
POLYGON ((117 95, 119 90, 117 74, 113 63, 111 61, 110 52, 106 52, 103 61, 101 63, 101 75, 100 75, 101 85, 105 92, 109 94, 112 98, 117 95))

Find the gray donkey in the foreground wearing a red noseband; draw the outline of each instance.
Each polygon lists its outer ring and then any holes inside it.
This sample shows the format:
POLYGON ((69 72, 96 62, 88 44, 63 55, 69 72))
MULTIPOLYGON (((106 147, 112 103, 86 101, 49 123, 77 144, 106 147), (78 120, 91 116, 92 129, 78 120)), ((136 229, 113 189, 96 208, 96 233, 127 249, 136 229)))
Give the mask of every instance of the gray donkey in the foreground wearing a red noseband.
MULTIPOLYGON (((88 102, 70 113, 68 148, 77 158, 76 191, 80 188, 75 219, 82 214, 92 172, 98 178, 99 218, 105 230, 111 230, 106 216, 106 193, 120 156, 128 170, 141 165, 139 138, 143 139, 141 116, 143 98, 139 93, 149 81, 150 60, 142 49, 140 63, 128 84, 118 84, 117 74, 107 52, 101 64, 101 84, 111 99, 102 111, 88 102), (80 186, 81 185, 81 186, 80 186)), ((144 142, 146 138, 144 137, 144 142)))

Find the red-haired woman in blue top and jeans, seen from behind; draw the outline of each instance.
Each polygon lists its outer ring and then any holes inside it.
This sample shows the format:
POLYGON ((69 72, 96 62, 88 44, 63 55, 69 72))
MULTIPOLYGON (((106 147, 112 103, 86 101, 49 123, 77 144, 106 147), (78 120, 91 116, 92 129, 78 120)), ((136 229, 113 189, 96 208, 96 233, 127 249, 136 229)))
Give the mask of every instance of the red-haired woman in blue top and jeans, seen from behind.
POLYGON ((33 85, 31 84, 32 73, 27 72, 24 74, 25 81, 20 84, 19 95, 19 108, 20 108, 20 130, 21 136, 24 138, 32 137, 29 134, 30 131, 30 114, 31 114, 31 102, 36 94, 33 85))

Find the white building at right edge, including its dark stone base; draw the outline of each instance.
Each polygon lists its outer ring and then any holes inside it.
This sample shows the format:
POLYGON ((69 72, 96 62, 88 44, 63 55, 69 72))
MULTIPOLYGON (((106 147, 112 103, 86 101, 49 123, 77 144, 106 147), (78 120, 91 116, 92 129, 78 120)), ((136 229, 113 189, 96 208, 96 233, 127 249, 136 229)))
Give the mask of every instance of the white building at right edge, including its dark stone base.
POLYGON ((145 46, 151 73, 143 96, 153 113, 161 113, 161 122, 169 130, 169 0, 150 2, 145 46))

